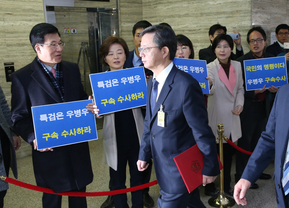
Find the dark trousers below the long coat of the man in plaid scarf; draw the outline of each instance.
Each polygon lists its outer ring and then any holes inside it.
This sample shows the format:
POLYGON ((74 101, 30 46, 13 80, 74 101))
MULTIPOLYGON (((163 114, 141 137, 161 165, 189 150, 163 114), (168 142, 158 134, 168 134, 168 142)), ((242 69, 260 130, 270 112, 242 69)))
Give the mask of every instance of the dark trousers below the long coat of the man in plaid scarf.
MULTIPOLYGON (((81 190, 72 190, 75 192, 85 192, 86 187, 81 190)), ((61 208, 62 195, 43 193, 42 206, 43 208, 61 208)), ((86 197, 69 196, 68 197, 69 208, 87 208, 86 197)))

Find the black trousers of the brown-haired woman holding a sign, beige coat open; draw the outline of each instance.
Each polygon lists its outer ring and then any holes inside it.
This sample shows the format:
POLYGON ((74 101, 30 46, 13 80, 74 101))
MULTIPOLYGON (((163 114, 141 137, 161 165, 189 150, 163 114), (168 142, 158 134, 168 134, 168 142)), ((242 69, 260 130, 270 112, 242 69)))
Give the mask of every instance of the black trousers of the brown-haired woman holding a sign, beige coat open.
MULTIPOLYGON (((118 140, 119 141, 119 140, 118 140)), ((143 173, 138 170, 136 162, 139 157, 139 140, 136 139, 133 144, 127 142, 117 142, 117 170, 109 168, 109 189, 125 189, 126 165, 129 166, 130 187, 142 184, 143 173)), ((117 194, 113 196, 115 208, 129 208, 127 203, 127 194, 117 194)), ((131 192, 132 207, 143 207, 143 190, 131 192)))

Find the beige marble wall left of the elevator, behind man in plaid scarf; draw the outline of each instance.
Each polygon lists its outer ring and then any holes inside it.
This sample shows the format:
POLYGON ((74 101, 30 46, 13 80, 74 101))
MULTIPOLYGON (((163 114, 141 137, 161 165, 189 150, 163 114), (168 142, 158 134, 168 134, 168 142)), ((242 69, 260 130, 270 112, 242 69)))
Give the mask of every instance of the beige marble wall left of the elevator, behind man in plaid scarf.
POLYGON ((29 33, 44 21, 42 0, 0 0, 0 85, 9 105, 11 82, 6 82, 3 63, 14 62, 17 70, 33 60, 29 33))

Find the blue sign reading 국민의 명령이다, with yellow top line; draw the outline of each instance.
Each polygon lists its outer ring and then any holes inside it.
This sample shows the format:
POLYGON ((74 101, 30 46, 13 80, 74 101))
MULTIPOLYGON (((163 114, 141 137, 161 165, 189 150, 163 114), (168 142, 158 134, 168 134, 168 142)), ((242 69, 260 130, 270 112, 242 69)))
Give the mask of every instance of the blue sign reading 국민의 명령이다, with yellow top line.
POLYGON ((262 58, 244 60, 246 90, 280 87, 287 84, 286 58, 262 58))

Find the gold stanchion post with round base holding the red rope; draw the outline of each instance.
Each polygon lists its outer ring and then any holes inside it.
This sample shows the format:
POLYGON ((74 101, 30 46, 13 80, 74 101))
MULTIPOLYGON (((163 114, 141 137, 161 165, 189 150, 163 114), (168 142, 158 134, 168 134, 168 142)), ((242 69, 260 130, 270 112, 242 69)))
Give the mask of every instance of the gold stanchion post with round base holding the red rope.
MULTIPOLYGON (((224 133, 224 125, 223 124, 218 124, 218 135, 219 135, 219 157, 220 161, 223 164, 223 139, 227 139, 226 136, 223 136, 224 133)), ((224 193, 224 174, 223 174, 223 169, 221 170, 220 174, 220 193, 217 197, 212 197, 208 201, 209 205, 212 207, 217 207, 217 208, 225 208, 225 207, 233 207, 235 205, 235 200, 231 197, 226 197, 224 193)))

